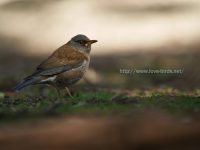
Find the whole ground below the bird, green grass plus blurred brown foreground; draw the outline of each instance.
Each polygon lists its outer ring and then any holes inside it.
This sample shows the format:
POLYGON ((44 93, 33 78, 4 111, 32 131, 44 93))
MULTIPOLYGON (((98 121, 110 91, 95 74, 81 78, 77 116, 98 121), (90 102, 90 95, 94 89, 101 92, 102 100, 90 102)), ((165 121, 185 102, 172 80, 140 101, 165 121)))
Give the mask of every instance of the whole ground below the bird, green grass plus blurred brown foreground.
MULTIPOLYGON (((41 94, 40 90, 34 94, 41 94)), ((25 95, 0 94, 0 147, 49 150, 200 146, 199 90, 119 92, 93 87, 73 92, 73 98, 58 98, 55 92, 43 90, 46 96, 33 96, 31 88, 25 95), (24 143, 24 139, 29 140, 24 143)))

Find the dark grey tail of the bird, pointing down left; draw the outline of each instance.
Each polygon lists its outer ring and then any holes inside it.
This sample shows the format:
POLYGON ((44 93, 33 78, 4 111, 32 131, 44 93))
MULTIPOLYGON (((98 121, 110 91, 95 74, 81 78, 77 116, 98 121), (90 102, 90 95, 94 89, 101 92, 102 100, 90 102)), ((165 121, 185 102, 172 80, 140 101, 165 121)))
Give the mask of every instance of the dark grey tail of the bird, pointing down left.
POLYGON ((16 91, 16 92, 20 91, 21 89, 23 89, 23 88, 25 88, 25 87, 27 87, 29 85, 35 84, 36 81, 37 81, 37 78, 35 78, 35 77, 26 78, 26 79, 22 80, 22 82, 20 82, 19 84, 17 84, 17 86, 14 87, 13 90, 16 91))

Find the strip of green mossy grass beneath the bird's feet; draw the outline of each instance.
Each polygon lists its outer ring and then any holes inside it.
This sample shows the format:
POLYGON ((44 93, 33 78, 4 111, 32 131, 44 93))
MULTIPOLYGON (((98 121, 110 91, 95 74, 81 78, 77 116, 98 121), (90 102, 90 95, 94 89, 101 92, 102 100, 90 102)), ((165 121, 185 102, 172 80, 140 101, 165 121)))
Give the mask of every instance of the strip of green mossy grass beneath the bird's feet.
POLYGON ((200 111, 199 93, 157 90, 116 94, 112 92, 81 92, 73 98, 54 96, 5 97, 1 93, 0 120, 40 118, 64 114, 130 115, 145 110, 161 111, 174 116, 193 116, 200 111))

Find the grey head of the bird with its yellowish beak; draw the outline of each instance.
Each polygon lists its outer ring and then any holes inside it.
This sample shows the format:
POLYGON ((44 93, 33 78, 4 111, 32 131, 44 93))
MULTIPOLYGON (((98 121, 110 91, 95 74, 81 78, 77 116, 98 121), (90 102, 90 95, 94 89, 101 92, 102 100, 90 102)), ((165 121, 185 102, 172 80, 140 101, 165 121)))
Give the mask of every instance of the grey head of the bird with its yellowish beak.
POLYGON ((78 34, 74 36, 68 44, 78 51, 90 53, 91 45, 96 43, 97 40, 90 40, 87 36, 78 34))

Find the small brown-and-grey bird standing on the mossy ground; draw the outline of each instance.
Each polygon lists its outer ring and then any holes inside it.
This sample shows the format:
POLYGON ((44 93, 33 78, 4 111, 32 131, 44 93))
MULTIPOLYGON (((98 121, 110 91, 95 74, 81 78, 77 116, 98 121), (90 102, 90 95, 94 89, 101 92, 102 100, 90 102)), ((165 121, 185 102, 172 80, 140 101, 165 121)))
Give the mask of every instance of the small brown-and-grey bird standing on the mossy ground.
POLYGON ((72 37, 44 60, 33 74, 17 84, 14 91, 19 92, 30 85, 47 84, 55 87, 58 95, 64 89, 72 97, 68 87, 83 78, 88 70, 91 45, 96 42, 83 34, 72 37))

